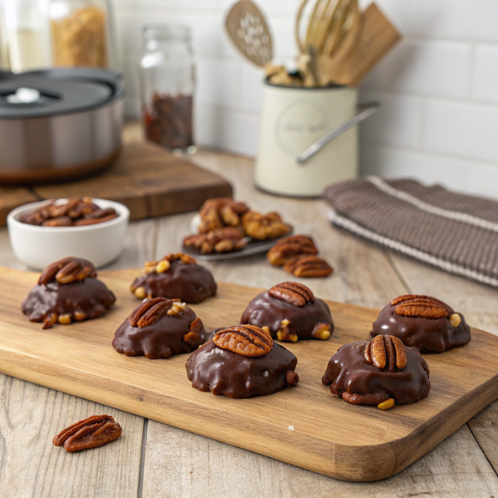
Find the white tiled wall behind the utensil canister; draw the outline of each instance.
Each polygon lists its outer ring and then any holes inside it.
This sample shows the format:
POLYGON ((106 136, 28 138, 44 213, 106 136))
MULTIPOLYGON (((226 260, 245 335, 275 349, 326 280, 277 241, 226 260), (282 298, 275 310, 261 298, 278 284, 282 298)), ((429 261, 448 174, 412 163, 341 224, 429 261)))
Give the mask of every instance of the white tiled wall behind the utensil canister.
MULTIPOLYGON (((256 0, 277 62, 296 54, 299 0, 256 0)), ((360 0, 366 7, 371 0, 360 0)), ((197 57, 198 143, 255 155, 262 71, 225 35, 233 0, 114 0, 126 112, 139 113, 141 26, 185 23, 197 57)), ((361 85, 382 108, 361 126, 362 174, 409 176, 498 198, 498 1, 376 0, 403 40, 361 85)))

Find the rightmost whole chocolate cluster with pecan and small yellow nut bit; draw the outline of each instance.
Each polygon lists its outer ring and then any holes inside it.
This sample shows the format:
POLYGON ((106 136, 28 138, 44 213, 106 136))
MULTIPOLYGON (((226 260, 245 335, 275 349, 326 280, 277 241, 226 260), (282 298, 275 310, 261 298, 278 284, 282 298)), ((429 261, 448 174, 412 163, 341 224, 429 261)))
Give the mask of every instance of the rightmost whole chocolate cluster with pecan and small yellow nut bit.
POLYGON ((470 328, 461 313, 431 296, 407 294, 387 304, 373 322, 370 335, 399 337, 419 351, 442 353, 470 341, 470 328))

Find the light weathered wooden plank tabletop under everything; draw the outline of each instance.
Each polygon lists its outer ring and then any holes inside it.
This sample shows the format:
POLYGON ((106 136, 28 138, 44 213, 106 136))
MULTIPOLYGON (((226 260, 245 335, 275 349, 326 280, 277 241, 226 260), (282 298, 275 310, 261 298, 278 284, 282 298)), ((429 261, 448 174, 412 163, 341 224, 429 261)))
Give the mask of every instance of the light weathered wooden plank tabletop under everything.
MULTIPOLYGON (((128 130, 128 139, 134 136, 128 130)), ((334 266, 302 280, 316 295, 381 308, 403 293, 431 294, 469 324, 498 335, 498 290, 429 268, 332 228, 320 200, 272 197, 252 186, 253 161, 209 151, 192 156, 235 186, 237 199, 278 210, 297 233, 311 234, 334 266)), ((132 223, 109 269, 140 267, 177 251, 192 213, 132 223)), ((0 264, 25 269, 0 230, 0 264)), ((287 278, 264 255, 207 264, 217 280, 270 287, 287 278)), ((334 420, 331 418, 330 423, 334 420)), ((498 497, 498 401, 399 474, 348 483, 86 399, 0 374, 0 497, 498 497), (113 415, 122 437, 70 454, 52 437, 97 413, 113 415)))

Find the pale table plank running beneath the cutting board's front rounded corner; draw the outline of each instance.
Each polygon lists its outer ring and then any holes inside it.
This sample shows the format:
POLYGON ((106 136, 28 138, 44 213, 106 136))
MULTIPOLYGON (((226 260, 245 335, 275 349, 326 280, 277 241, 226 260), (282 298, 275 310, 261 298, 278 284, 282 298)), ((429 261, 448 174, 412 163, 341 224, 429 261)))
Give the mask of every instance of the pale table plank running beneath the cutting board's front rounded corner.
MULTIPOLYGON (((333 423, 331 421, 331 423, 333 423)), ((497 496, 498 478, 466 425, 393 477, 348 483, 149 421, 143 498, 497 496)))

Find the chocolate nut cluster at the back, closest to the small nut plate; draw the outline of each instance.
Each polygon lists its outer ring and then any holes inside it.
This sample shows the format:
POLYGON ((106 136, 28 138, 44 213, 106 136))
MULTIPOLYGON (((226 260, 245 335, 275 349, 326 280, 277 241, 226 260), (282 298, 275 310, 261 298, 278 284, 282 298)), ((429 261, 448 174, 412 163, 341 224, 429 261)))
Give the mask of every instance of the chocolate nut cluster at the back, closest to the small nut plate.
POLYGON ((171 268, 163 273, 152 271, 135 278, 133 287, 143 287, 149 297, 180 299, 195 304, 214 295, 218 286, 204 266, 175 259, 171 268))

